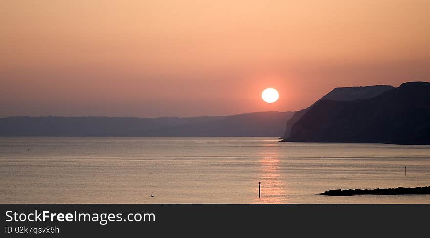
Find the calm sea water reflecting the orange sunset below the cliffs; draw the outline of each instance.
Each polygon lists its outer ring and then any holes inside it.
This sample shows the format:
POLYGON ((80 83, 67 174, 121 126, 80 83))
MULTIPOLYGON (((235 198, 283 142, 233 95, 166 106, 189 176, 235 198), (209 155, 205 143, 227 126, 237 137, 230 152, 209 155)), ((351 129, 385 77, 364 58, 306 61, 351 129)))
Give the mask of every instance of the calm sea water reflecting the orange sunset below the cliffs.
POLYGON ((0 203, 430 203, 430 195, 317 195, 429 186, 430 146, 278 141, 3 137, 0 203))

